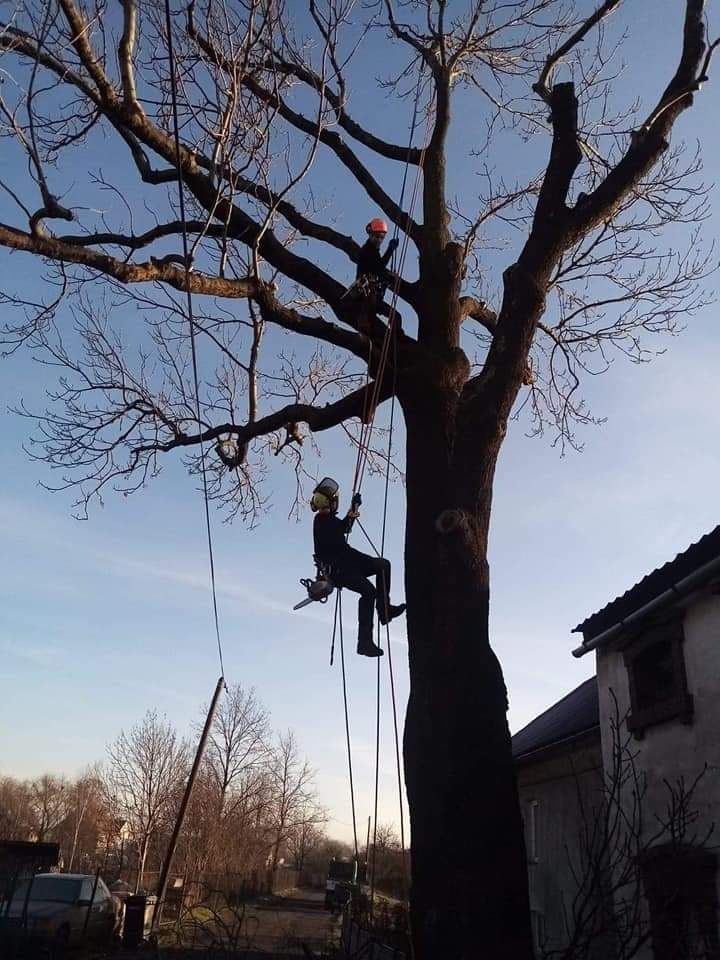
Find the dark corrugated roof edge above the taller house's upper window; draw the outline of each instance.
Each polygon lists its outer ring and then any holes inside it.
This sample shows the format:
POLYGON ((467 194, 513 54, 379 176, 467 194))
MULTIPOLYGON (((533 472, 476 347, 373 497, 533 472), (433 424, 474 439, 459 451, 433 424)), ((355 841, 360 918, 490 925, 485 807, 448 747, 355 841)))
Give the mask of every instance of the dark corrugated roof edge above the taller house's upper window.
POLYGON ((597 613, 591 614, 575 627, 573 633, 582 633, 585 642, 592 640, 603 630, 615 626, 616 623, 717 557, 720 557, 720 526, 706 533, 697 543, 693 543, 683 553, 679 553, 674 560, 670 560, 643 577, 622 596, 616 597, 597 613))

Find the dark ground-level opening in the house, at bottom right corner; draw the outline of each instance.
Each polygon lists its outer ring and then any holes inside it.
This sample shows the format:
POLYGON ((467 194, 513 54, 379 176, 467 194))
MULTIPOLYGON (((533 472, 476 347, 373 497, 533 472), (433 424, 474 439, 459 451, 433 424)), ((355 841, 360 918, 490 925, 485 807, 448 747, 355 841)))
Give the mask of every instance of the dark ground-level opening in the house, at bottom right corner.
POLYGON ((716 854, 663 844, 646 851, 641 870, 655 960, 716 960, 716 854))

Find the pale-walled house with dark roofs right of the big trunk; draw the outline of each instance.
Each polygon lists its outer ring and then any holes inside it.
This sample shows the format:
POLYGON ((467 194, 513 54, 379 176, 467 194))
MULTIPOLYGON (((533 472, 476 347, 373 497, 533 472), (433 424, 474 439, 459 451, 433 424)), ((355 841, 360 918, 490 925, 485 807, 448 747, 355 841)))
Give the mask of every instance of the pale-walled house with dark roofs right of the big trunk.
POLYGON ((720 527, 576 631, 597 676, 513 737, 538 946, 717 960, 720 527))

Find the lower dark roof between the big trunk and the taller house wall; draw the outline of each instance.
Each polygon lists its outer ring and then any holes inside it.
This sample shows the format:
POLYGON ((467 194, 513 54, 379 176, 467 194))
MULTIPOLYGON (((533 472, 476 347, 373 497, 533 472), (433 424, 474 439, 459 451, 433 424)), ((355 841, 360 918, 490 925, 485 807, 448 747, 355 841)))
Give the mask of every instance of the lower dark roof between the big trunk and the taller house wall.
POLYGON ((599 726, 597 677, 590 677, 515 734, 513 757, 517 760, 599 726))

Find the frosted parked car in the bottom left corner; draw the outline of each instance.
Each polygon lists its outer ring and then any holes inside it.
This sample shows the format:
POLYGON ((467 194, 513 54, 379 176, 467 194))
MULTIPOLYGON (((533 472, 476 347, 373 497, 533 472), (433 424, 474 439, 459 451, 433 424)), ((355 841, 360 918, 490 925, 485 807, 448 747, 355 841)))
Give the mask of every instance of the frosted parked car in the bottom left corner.
POLYGON ((79 873, 39 873, 18 884, 7 913, 11 926, 57 945, 109 939, 118 902, 98 878, 79 873), (27 911, 27 914, 26 914, 27 911), (27 917, 27 919, 26 919, 27 917))

